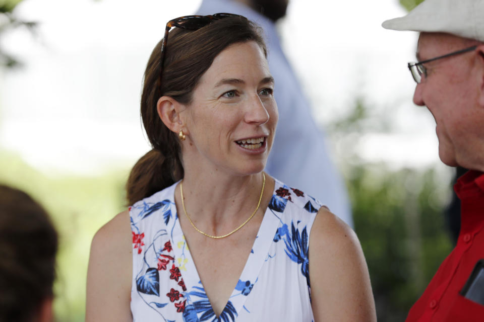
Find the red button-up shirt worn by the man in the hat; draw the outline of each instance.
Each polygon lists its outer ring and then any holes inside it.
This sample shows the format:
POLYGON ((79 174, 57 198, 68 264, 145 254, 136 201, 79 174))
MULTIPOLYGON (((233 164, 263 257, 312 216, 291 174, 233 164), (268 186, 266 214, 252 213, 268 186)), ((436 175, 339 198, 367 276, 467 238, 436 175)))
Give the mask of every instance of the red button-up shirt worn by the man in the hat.
POLYGON ((457 245, 413 304, 406 321, 484 321, 484 305, 459 294, 477 261, 484 259, 484 174, 467 172, 454 190, 461 200, 457 245))

